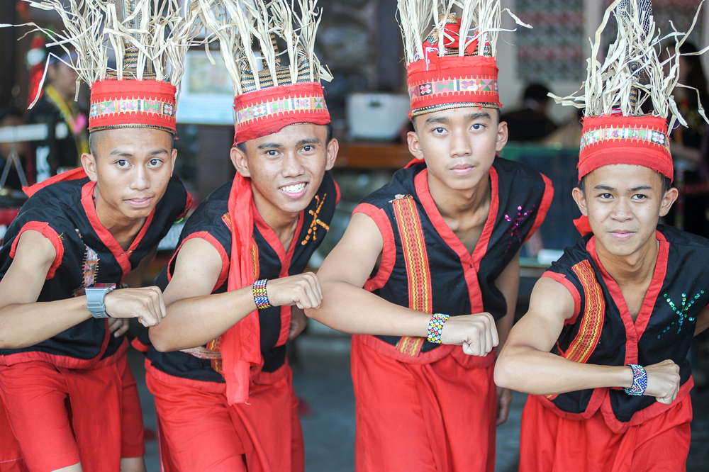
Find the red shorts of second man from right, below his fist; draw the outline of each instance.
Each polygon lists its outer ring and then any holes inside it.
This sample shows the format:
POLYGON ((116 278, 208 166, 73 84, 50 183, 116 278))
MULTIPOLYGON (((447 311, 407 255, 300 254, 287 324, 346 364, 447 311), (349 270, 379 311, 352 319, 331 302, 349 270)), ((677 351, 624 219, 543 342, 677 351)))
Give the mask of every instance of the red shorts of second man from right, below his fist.
POLYGON ((353 336, 356 470, 493 472, 494 358, 471 367, 483 359, 456 347, 430 364, 408 364, 353 336))

